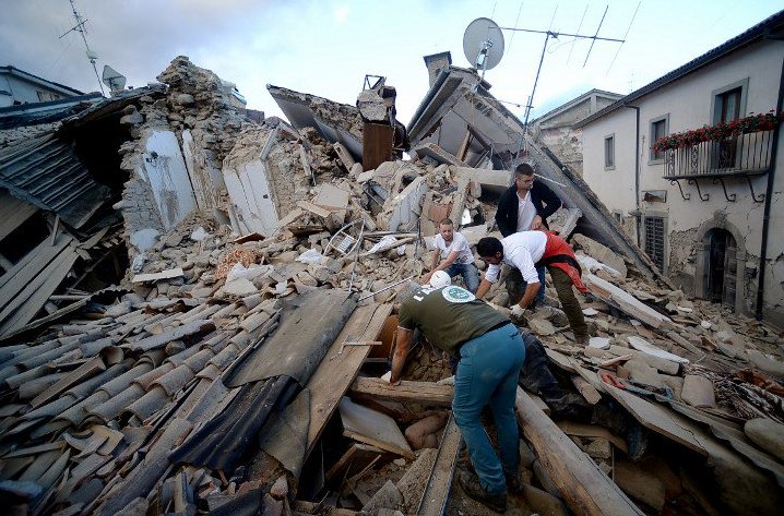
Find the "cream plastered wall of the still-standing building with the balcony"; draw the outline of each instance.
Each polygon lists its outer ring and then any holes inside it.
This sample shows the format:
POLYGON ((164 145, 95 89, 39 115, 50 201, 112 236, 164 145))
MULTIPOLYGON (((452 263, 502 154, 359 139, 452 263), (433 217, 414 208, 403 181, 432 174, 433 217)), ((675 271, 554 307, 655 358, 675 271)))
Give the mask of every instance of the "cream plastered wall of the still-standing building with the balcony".
MULTIPOLYGON (((759 268, 757 256, 760 254, 764 203, 753 202, 748 182, 739 178, 725 178, 727 193, 734 193, 736 202, 728 202, 721 183, 714 184, 712 179, 699 182, 703 196, 710 196, 708 201, 700 201, 696 185, 681 180, 684 193, 691 195, 690 200, 684 200, 677 184, 670 184, 669 180, 662 178, 665 173, 664 164, 650 163, 650 123, 661 116, 668 116, 669 133, 710 125, 713 122, 713 92, 746 79, 747 104, 741 117, 767 112, 775 108, 783 62, 784 41, 762 41, 703 67, 633 103, 640 107, 641 196, 646 190, 667 191, 666 203, 641 202, 642 213, 664 214, 670 238, 678 231, 696 230, 716 216, 725 218, 745 238, 745 252, 749 255, 746 266, 750 269, 759 268)), ((583 128, 584 178, 609 209, 628 211, 628 200, 633 199, 633 194, 628 194, 630 188, 633 191, 633 109, 623 108, 583 128), (616 168, 621 172, 615 181, 611 180, 613 173, 604 170, 603 140, 611 132, 616 134, 616 168)), ((784 227, 784 140, 780 137, 776 145, 779 157, 773 172, 775 193, 767 253, 772 260, 767 265, 763 304, 768 312, 779 313, 772 320, 781 319, 784 322, 784 261, 776 259, 784 253, 784 231, 781 230, 784 227)), ((757 196, 764 193, 767 181, 768 176, 752 178, 751 184, 757 196)), ((698 243, 694 242, 696 249, 698 243)), ((756 285, 757 279, 738 277, 738 288, 747 290, 744 308, 747 313, 753 309, 756 285)))

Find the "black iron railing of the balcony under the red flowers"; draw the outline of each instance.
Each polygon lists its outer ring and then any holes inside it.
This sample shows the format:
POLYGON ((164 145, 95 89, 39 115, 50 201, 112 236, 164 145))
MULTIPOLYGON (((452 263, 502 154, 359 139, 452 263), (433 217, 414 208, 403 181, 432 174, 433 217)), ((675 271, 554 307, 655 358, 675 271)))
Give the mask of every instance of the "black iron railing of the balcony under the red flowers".
POLYGON ((771 166, 773 130, 738 134, 664 151, 664 179, 699 179, 765 173, 771 166))

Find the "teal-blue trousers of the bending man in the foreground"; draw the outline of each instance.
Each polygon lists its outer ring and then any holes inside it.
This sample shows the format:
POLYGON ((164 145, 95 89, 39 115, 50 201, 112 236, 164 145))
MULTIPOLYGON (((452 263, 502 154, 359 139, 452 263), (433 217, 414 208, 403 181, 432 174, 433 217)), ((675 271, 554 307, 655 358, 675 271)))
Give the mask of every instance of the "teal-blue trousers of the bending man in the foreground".
POLYGON ((510 323, 465 343, 460 357, 452 401, 454 421, 483 489, 501 494, 507 491, 504 473, 515 475, 520 467, 514 399, 525 346, 520 332, 510 323), (479 419, 485 405, 492 410, 500 459, 479 419))

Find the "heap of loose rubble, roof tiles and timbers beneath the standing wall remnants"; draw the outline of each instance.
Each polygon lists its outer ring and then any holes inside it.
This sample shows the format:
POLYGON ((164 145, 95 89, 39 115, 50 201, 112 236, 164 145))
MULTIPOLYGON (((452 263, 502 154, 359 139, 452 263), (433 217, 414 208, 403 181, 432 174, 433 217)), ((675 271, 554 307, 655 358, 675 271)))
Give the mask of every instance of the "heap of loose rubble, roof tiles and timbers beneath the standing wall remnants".
MULTIPOLYGON (((401 387, 379 377, 394 343, 394 303, 409 288, 403 280, 430 263, 427 237, 438 221, 466 225, 472 243, 490 233, 488 179, 427 157, 364 171, 316 131, 225 117, 224 96, 188 86, 189 63, 173 67, 171 92, 142 109, 145 119, 201 130, 193 137, 229 167, 269 143, 271 180, 285 193, 274 200, 282 227, 250 230, 230 195, 217 195, 211 208, 228 216, 193 212, 134 251, 114 302, 3 341, 0 489, 9 506, 61 516, 489 514, 453 482, 467 463, 447 360, 420 340, 401 387), (221 109, 195 111, 205 98, 221 109), (231 131, 214 140, 221 123, 231 131), (364 300, 300 385, 311 396, 304 465, 259 449, 266 427, 230 470, 171 460, 188 436, 231 410, 242 393, 228 379, 281 329, 293 321, 304 333, 319 328, 317 313, 300 308, 307 299, 349 289, 364 300)), ((313 109, 361 136, 354 111, 313 109)), ((130 164, 139 149, 126 153, 130 164)), ((573 219, 562 211, 559 228, 570 233, 573 219)), ((571 243, 590 290, 580 295, 590 345, 575 346, 551 285, 548 305, 523 326, 579 410, 558 418, 542 393, 519 391, 525 485, 510 511, 775 514, 784 485, 781 333, 654 284, 583 235, 571 243)), ((502 281, 487 299, 508 313, 502 281)), ((280 420, 293 405, 275 409, 280 420)))

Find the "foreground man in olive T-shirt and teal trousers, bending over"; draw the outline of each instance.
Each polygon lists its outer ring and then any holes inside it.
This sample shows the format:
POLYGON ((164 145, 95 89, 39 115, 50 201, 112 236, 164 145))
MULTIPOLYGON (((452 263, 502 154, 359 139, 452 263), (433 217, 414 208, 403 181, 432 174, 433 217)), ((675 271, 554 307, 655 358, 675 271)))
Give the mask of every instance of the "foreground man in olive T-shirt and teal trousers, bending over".
POLYGON ((507 487, 520 491, 520 452, 514 399, 525 346, 518 328, 464 288, 425 285, 403 301, 390 383, 400 383, 414 329, 430 344, 460 356, 452 412, 468 448, 476 477, 463 472, 463 490, 499 513, 507 508, 507 487), (489 405, 498 431, 500 459, 479 415, 489 405))

